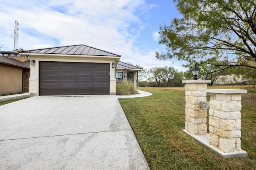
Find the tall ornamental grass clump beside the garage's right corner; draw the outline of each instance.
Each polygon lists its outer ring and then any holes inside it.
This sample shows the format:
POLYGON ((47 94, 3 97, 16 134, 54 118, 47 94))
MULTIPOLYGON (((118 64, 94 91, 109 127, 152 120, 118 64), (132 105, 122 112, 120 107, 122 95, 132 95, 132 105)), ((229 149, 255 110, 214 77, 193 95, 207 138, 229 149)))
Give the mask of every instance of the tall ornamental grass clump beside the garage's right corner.
POLYGON ((132 81, 116 81, 116 95, 139 94, 132 81))

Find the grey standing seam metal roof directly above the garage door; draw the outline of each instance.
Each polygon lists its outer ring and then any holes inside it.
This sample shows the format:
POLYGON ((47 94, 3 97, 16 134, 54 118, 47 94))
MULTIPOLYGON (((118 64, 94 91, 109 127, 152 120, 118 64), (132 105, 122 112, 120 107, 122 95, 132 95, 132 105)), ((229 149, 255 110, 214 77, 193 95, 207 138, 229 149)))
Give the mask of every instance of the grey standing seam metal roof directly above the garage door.
POLYGON ((20 53, 38 53, 38 54, 64 54, 64 55, 96 55, 96 56, 113 56, 121 57, 121 55, 110 53, 108 51, 89 47, 87 45, 70 45, 62 47, 52 47, 45 49, 34 49, 20 51, 20 53))

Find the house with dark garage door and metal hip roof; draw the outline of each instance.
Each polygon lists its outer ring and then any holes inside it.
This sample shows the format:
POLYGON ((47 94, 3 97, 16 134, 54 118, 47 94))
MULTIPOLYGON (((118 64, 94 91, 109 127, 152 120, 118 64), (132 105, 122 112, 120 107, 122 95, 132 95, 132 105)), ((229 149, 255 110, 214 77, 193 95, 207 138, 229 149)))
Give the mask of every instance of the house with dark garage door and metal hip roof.
POLYGON ((30 57, 30 96, 116 95, 117 78, 132 78, 141 68, 119 63, 121 55, 86 45, 20 51, 30 57), (124 76, 116 72, 124 72, 124 76))

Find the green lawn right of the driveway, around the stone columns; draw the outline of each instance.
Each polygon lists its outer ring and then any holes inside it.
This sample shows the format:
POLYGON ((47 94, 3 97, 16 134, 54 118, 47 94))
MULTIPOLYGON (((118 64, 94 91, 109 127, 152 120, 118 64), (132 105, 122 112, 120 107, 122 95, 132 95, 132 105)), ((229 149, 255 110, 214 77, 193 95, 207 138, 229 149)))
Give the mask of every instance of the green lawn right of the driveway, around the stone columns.
POLYGON ((242 96, 241 147, 248 157, 224 159, 182 131, 184 87, 140 90, 152 96, 119 101, 152 170, 256 169, 256 94, 242 96))

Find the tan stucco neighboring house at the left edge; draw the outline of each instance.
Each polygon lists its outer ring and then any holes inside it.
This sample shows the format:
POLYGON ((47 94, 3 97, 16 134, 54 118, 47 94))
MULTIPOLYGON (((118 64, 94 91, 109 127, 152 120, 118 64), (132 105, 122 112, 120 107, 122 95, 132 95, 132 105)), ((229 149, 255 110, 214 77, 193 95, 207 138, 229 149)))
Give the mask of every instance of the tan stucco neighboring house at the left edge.
POLYGON ((6 56, 0 55, 0 95, 29 92, 30 62, 14 59, 18 53, 0 53, 6 56))

